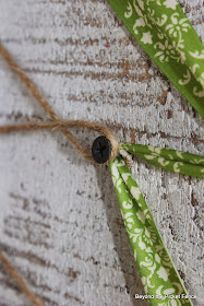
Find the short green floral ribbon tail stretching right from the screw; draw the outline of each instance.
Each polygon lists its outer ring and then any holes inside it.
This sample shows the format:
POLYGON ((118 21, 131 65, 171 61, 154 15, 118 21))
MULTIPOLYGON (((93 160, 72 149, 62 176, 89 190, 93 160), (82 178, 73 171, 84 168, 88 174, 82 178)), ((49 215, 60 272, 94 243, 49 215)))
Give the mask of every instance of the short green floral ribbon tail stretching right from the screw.
POLYGON ((121 149, 163 169, 204 178, 204 156, 143 144, 122 143, 121 149))

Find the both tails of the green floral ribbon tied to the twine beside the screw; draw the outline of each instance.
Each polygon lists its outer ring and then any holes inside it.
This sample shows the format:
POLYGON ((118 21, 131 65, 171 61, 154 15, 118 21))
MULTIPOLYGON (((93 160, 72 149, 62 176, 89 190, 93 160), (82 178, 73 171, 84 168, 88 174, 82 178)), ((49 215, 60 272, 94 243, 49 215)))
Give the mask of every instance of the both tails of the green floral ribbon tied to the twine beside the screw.
MULTIPOLYGON (((121 149, 167 170, 204 178, 204 156, 142 144, 123 143, 121 149)), ((118 156, 109 166, 149 304, 152 306, 192 305, 146 201, 124 160, 118 156)))

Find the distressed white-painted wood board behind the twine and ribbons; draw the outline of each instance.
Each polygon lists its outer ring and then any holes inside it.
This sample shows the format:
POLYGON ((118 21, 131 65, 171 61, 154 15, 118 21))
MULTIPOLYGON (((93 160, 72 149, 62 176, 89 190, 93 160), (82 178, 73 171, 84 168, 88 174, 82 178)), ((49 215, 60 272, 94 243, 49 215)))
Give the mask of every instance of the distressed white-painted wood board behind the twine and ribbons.
MULTIPOLYGON (((180 4, 204 40, 202 0, 180 4)), ((63 119, 122 142, 203 154, 203 119, 107 1, 0 0, 0 39, 63 119)), ((0 59, 0 123, 45 118, 0 59)), ((76 131, 86 144, 95 134, 76 131)), ((190 294, 203 305, 203 181, 134 160, 132 172, 190 294)), ((147 305, 109 169, 59 132, 0 137, 0 246, 45 305, 147 305)), ((0 266, 0 305, 29 305, 0 266)))

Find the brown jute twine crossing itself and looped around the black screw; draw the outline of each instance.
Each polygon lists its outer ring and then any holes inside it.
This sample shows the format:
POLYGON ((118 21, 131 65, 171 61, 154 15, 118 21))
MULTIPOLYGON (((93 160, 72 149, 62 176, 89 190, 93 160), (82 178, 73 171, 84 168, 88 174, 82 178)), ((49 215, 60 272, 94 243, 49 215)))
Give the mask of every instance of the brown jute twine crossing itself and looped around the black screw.
POLYGON ((69 120, 63 121, 60 117, 55 113, 52 107, 49 105, 48 101, 41 95, 37 86, 34 82, 23 72, 23 70, 19 67, 19 64, 14 61, 10 52, 0 44, 0 55, 7 61, 8 66, 13 70, 23 84, 27 87, 28 92, 39 102, 41 107, 44 108, 47 116, 50 117, 52 120, 45 121, 45 122, 27 122, 27 123, 20 123, 16 126, 3 126, 0 127, 0 133, 9 133, 11 131, 24 131, 24 130, 41 130, 41 129, 49 129, 49 128, 59 128, 62 134, 72 143, 75 151, 77 151, 81 155, 86 157, 92 163, 96 164, 92 153, 89 150, 84 149, 79 140, 73 136, 73 133, 68 128, 88 128, 93 131, 97 131, 104 134, 111 143, 111 156, 108 162, 111 162, 119 152, 119 143, 113 136, 113 133, 103 125, 98 125, 91 121, 85 120, 69 120))

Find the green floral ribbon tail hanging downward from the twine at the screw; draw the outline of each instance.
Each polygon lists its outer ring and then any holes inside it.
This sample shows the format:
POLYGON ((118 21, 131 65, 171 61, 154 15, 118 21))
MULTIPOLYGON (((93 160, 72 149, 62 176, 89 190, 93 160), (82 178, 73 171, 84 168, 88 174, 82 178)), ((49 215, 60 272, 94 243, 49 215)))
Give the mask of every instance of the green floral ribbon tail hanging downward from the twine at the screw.
POLYGON ((118 156, 110 163, 124 225, 152 306, 190 306, 182 281, 165 248, 137 184, 118 156))

